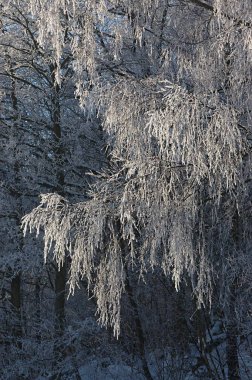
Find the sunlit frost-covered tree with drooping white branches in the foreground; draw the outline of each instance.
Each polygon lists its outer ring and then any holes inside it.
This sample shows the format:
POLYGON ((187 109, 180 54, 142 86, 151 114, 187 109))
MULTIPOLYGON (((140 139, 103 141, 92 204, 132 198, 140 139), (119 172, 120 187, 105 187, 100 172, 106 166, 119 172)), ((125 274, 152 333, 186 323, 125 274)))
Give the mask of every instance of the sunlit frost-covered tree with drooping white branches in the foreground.
MULTIPOLYGON (((250 2, 30 5, 59 85, 69 33, 76 95, 103 120, 110 169, 85 202, 43 195, 25 230, 43 227, 45 256, 52 249, 59 263, 69 250, 71 291, 80 277, 94 284, 100 321, 117 335, 131 265, 141 276, 161 267, 176 289, 190 279, 199 305, 224 294, 234 311, 251 270, 250 2)), ((238 379, 237 319, 226 317, 229 378, 238 379)))

